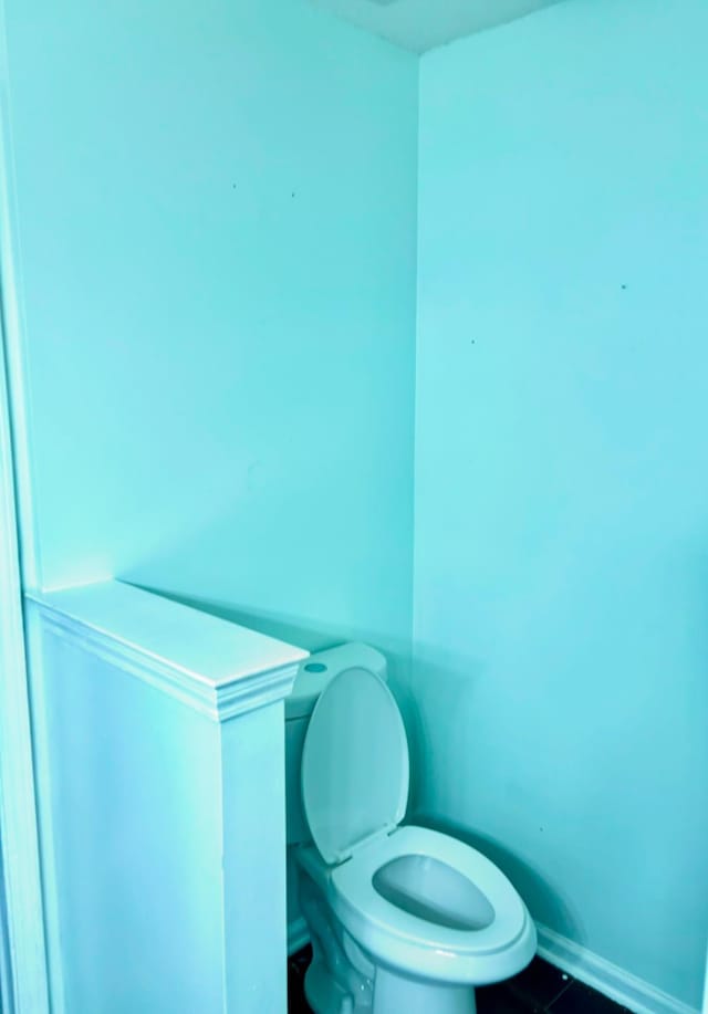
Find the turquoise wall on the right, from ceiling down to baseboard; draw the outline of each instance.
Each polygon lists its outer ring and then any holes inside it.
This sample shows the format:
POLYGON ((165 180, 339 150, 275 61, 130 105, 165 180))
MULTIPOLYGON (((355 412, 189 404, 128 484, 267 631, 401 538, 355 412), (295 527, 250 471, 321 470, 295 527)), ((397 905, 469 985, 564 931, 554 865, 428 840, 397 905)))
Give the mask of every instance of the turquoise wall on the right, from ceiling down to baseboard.
POLYGON ((423 59, 419 809, 699 1006, 708 931, 702 0, 423 59))

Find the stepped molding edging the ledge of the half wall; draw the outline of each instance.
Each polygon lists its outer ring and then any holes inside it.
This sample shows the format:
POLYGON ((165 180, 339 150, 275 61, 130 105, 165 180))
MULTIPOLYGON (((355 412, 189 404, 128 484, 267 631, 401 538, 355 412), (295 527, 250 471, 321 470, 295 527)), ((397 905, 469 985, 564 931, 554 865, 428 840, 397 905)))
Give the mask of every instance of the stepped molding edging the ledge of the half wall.
MULTIPOLYGON (((135 589, 135 594, 149 595, 138 589, 135 589)), ((126 644, 108 630, 97 629, 88 621, 67 615, 46 602, 42 593, 27 593, 25 602, 29 615, 39 618, 45 633, 76 645, 94 658, 110 662, 123 672, 136 677, 217 722, 227 722, 285 698, 290 693, 300 665, 296 660, 246 675, 240 673, 230 680, 217 681, 192 672, 178 662, 157 658, 139 646, 126 644)), ((169 609, 170 606, 180 610, 185 608, 180 605, 174 606, 167 599, 162 602, 165 609, 169 609)), ((208 649, 208 646, 206 647, 208 649)), ((299 649, 293 651, 306 655, 299 649)))

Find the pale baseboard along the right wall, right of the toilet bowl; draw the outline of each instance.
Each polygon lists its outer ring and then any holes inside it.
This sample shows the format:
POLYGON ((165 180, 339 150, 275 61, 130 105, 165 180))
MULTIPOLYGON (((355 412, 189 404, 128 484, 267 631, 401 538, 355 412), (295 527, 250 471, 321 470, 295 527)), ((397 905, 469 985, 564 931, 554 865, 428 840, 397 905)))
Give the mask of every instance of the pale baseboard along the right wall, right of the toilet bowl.
POLYGON ((635 1014, 699 1014, 697 1007, 625 972, 566 937, 538 926, 539 955, 635 1014))

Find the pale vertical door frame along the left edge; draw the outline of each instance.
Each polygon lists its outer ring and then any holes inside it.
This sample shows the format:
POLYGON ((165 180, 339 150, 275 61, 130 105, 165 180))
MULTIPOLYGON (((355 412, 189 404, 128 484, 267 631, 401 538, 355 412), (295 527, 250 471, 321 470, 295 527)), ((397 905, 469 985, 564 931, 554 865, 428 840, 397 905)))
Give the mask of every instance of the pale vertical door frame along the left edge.
POLYGON ((4 13, 0 0, 0 989, 3 1014, 49 1014, 22 609, 22 578, 34 584, 35 567, 4 13))

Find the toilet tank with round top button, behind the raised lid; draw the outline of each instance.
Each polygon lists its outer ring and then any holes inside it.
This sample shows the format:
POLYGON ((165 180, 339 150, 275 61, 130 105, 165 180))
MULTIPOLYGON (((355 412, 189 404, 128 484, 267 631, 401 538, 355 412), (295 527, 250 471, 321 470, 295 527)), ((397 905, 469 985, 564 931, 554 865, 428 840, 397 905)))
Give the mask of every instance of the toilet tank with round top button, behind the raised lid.
POLYGON ((300 765, 310 715, 329 681, 344 669, 361 667, 387 678, 386 659, 369 645, 353 642, 311 655, 300 663, 290 697, 285 699, 285 805, 288 845, 310 841, 302 809, 300 765))

